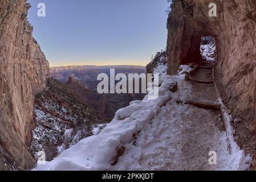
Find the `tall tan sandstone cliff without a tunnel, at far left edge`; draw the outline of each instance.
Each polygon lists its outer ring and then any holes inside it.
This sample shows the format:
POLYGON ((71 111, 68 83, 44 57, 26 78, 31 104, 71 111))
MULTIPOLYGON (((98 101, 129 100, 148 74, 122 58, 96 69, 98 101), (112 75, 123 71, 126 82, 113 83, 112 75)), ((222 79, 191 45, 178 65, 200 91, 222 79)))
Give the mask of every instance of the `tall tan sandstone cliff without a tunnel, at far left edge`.
POLYGON ((50 77, 49 65, 32 37, 26 0, 0 3, 0 145, 9 163, 34 163, 27 144, 35 127, 33 103, 50 77))

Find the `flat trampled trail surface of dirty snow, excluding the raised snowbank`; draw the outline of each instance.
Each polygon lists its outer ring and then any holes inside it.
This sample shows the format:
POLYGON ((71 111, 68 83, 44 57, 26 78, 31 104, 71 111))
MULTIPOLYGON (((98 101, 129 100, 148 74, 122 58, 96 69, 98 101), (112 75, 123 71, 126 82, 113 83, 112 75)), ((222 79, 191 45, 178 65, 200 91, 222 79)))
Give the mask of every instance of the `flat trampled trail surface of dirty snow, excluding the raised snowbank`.
MULTIPOLYGON (((201 87, 197 86, 194 88, 193 82, 180 84, 173 99, 145 125, 136 140, 136 145, 127 144, 125 147, 129 150, 111 169, 230 169, 226 132, 218 127, 221 125, 220 113, 176 102, 200 94, 198 89, 201 90, 201 87), (216 152, 217 165, 209 164, 210 151, 216 152)), ((205 89, 209 90, 208 86, 212 87, 214 92, 213 85, 207 84, 205 89)), ((204 89, 201 91, 204 92, 204 89)), ((207 95, 201 93, 201 99, 202 96, 207 95)))

